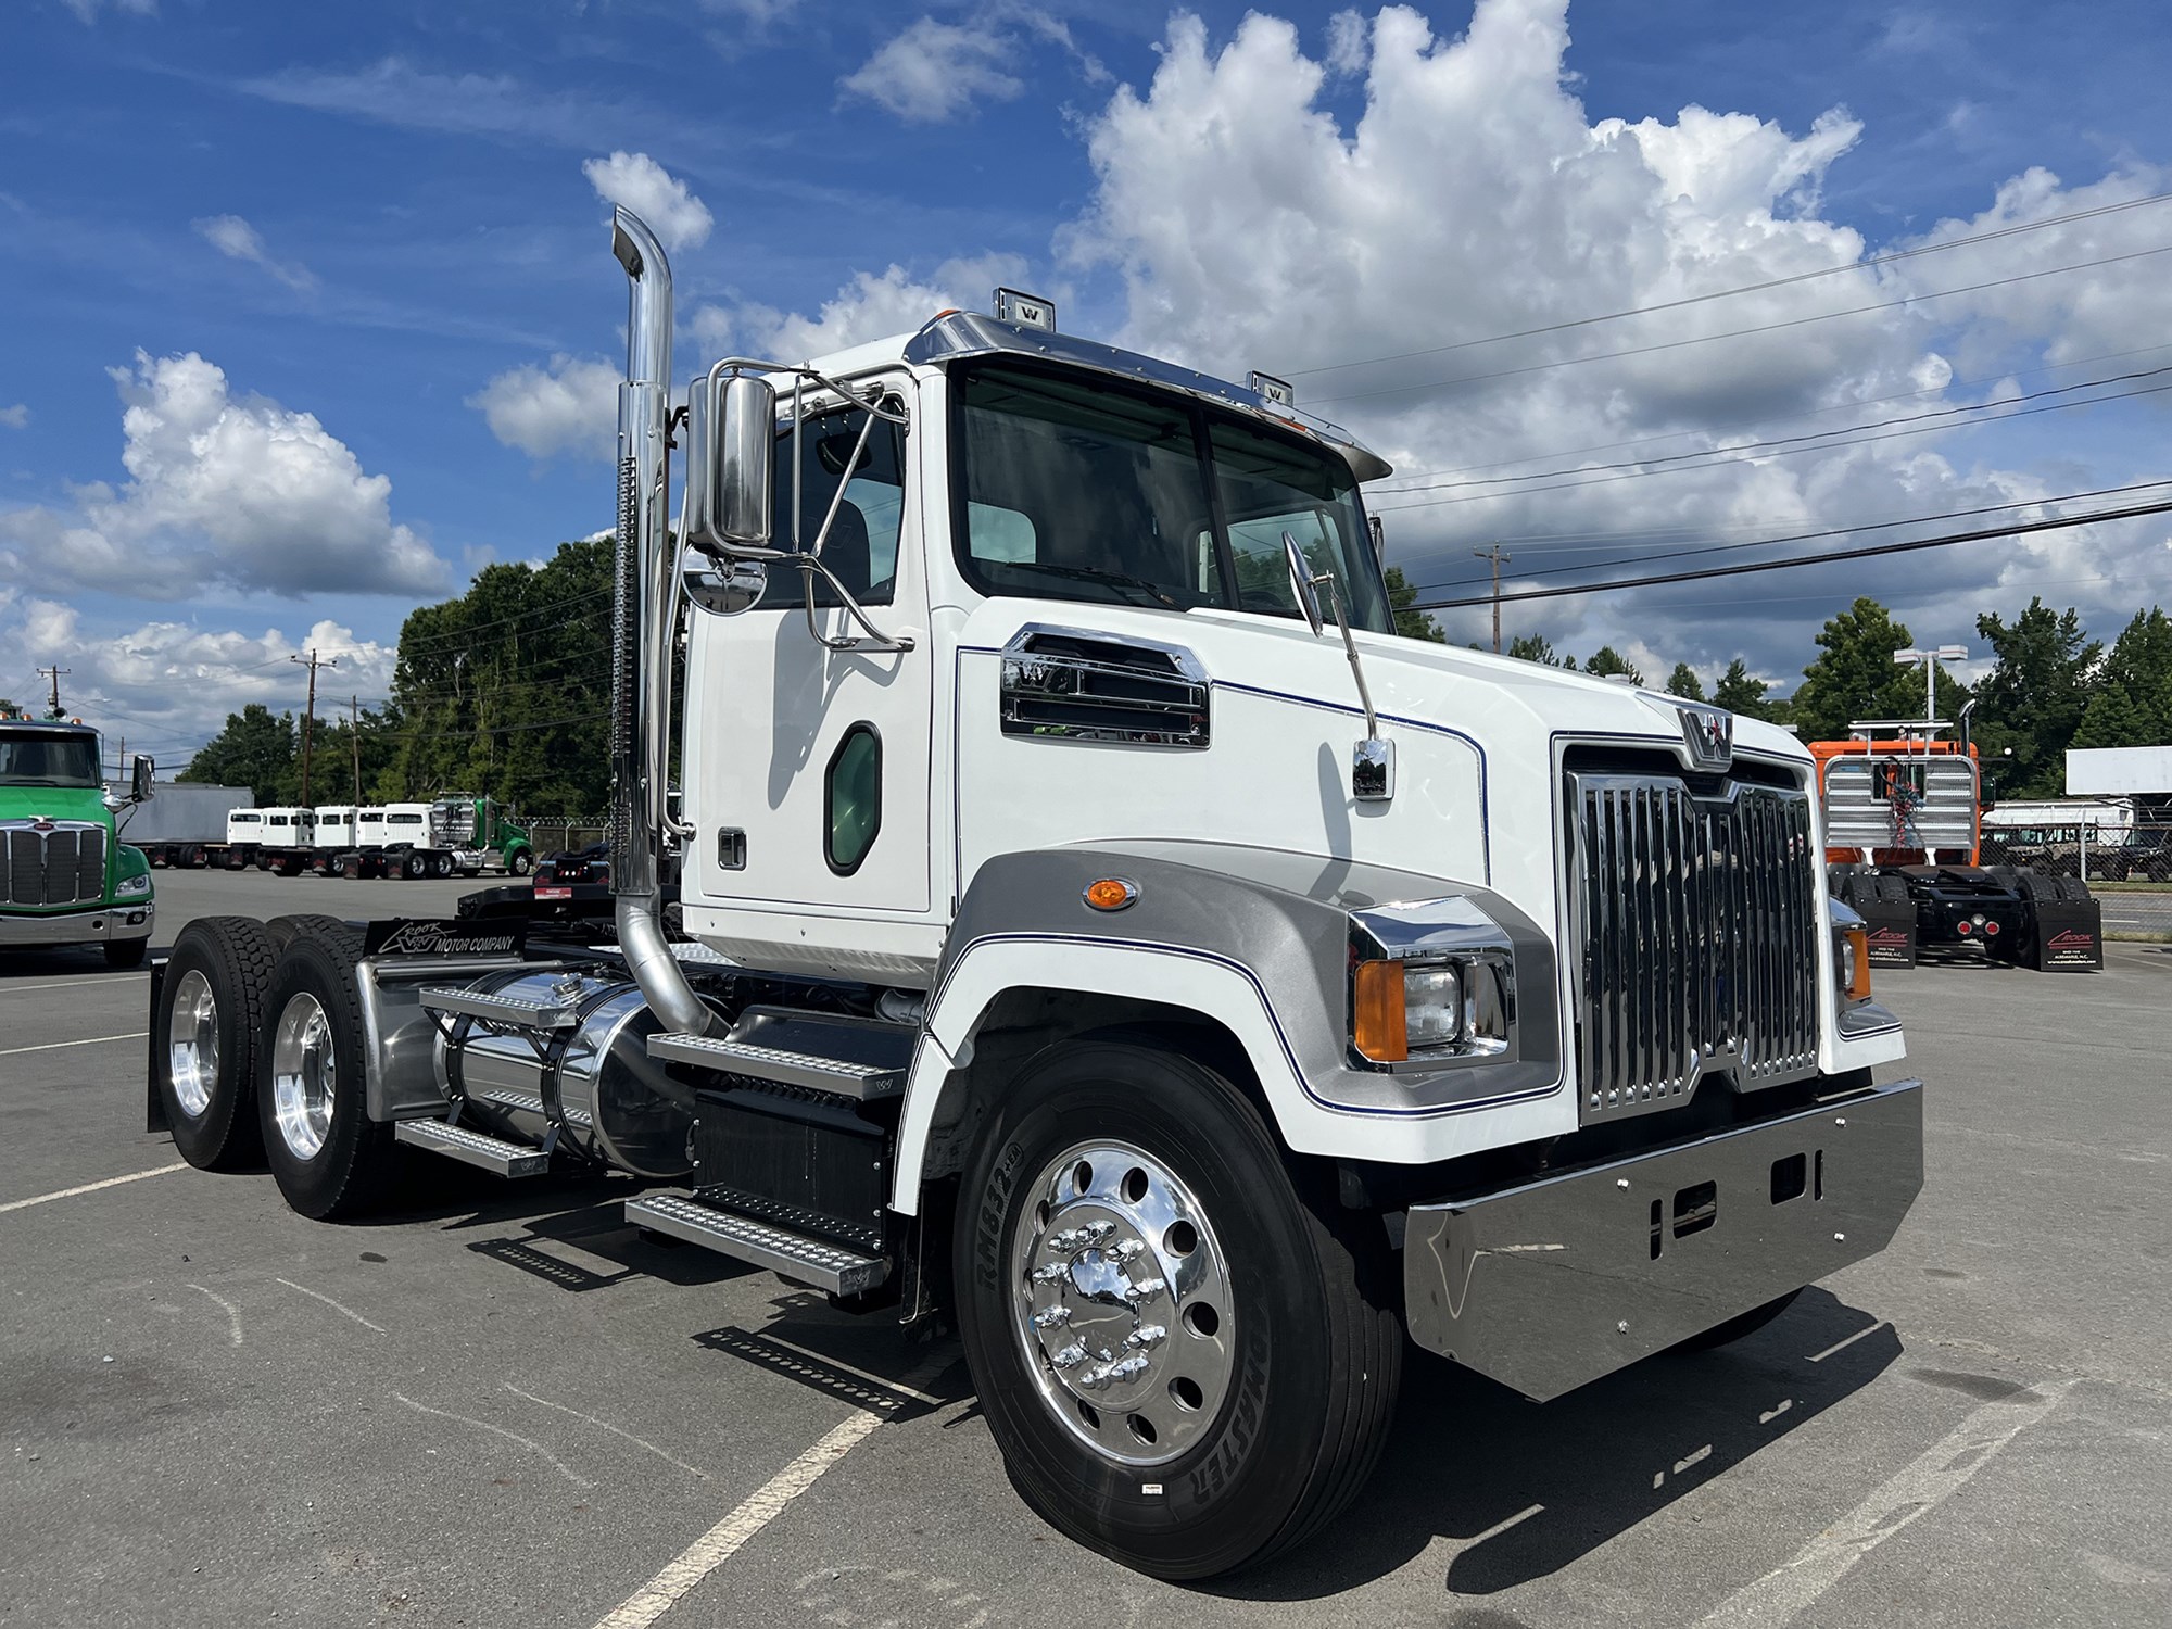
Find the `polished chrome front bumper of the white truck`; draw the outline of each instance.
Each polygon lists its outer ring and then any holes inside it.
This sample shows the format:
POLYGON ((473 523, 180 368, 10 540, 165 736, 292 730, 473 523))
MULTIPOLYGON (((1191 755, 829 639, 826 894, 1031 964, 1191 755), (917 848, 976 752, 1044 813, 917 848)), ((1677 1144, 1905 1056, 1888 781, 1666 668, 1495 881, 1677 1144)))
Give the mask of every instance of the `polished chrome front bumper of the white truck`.
POLYGON ((1922 1188, 1922 1082, 1414 1205, 1420 1347, 1544 1403, 1874 1255, 1922 1188))

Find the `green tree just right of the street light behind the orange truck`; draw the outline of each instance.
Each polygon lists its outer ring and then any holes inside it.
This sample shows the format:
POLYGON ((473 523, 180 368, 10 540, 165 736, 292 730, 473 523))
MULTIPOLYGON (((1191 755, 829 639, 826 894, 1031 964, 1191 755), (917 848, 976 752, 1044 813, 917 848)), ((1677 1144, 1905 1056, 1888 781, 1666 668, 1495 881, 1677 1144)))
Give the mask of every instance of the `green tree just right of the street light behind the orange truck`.
POLYGON ((1996 665, 1977 684, 1977 745, 2003 760, 2000 797, 2057 797, 2066 791, 2066 749, 2089 706, 2089 673, 2102 645, 2089 641, 2074 610, 2042 599, 2007 626, 1977 617, 1996 665))

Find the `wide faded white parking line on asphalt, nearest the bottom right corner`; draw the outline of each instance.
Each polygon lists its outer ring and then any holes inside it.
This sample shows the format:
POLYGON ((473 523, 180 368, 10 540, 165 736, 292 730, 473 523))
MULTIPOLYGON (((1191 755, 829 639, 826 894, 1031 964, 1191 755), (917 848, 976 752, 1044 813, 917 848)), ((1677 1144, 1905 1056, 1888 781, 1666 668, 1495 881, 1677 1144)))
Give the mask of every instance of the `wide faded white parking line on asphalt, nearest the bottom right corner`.
POLYGON ((2059 1407, 2074 1386, 2076 1381, 2061 1379, 1985 1403, 1818 1533, 1792 1562, 1720 1601, 1703 1629, 1779 1629, 1790 1622, 1870 1551, 1946 1503, 1994 1453, 2059 1407))

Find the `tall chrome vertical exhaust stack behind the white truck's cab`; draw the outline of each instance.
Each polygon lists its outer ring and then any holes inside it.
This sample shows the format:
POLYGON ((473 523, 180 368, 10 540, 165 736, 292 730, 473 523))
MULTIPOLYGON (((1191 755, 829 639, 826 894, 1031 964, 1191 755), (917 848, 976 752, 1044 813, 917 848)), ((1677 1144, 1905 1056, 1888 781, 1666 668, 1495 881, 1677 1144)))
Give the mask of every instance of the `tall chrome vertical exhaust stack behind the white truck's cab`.
POLYGON ((626 209, 610 219, 626 267, 626 382, 619 384, 619 539, 610 589, 610 886, 619 949, 665 1025, 708 1034, 715 1014, 665 940, 658 845, 669 784, 671 717, 671 265, 626 209))

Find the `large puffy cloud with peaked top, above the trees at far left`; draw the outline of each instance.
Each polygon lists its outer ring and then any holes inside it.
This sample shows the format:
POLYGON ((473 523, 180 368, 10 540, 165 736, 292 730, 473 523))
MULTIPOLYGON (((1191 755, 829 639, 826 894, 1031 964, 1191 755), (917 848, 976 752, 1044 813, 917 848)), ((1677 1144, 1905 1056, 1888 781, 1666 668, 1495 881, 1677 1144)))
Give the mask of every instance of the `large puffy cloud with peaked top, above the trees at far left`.
POLYGON ((137 352, 113 380, 128 480, 80 487, 67 508, 0 510, 0 576, 148 599, 445 589, 445 563, 391 519, 391 480, 313 413, 237 395, 195 352, 137 352))

